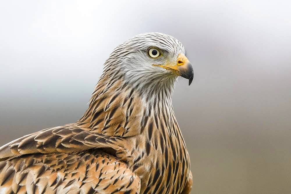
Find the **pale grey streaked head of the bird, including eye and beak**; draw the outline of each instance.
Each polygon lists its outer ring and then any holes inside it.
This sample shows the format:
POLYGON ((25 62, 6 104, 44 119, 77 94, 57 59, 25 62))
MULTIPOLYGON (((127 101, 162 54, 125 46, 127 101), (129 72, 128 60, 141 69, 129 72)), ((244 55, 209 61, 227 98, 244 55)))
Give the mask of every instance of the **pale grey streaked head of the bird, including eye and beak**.
POLYGON ((120 44, 105 62, 104 72, 139 90, 172 88, 178 76, 190 85, 194 76, 182 43, 163 33, 139 34, 120 44))

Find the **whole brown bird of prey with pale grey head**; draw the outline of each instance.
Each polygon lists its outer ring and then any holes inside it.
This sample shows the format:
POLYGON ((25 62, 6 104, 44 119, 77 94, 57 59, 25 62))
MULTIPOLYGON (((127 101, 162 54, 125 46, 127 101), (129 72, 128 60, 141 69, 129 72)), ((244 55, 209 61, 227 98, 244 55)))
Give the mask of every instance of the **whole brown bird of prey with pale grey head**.
POLYGON ((171 100, 178 76, 193 80, 185 55, 163 33, 117 46, 78 121, 0 148, 0 193, 190 193, 171 100))

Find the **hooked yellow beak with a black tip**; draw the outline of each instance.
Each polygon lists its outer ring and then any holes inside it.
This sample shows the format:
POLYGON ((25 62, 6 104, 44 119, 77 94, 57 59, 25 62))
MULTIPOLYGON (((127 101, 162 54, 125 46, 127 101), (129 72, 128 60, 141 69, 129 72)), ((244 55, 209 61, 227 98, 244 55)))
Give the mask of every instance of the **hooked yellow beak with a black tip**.
POLYGON ((173 73, 189 80, 189 85, 194 78, 194 71, 191 63, 183 54, 179 54, 176 64, 155 65, 173 71, 173 73))

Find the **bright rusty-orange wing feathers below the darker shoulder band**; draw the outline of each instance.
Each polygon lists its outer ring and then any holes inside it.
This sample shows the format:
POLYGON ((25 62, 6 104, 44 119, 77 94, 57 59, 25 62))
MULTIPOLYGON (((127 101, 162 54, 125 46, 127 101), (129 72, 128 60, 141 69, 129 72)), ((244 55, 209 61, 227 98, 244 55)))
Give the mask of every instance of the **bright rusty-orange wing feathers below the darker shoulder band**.
POLYGON ((99 150, 23 155, 1 161, 0 168, 0 193, 140 191, 140 178, 124 162, 99 150), (19 170, 20 164, 22 170, 19 170))

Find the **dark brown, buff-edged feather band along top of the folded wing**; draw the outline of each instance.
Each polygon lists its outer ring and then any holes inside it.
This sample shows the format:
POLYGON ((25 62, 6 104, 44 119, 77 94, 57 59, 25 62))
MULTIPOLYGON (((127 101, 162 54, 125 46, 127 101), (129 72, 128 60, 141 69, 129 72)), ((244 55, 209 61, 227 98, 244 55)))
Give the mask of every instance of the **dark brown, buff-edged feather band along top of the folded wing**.
POLYGON ((125 144, 124 139, 91 133, 69 124, 41 130, 7 143, 0 148, 0 161, 25 154, 77 153, 92 148, 113 148, 122 152, 125 144))

